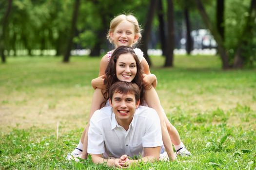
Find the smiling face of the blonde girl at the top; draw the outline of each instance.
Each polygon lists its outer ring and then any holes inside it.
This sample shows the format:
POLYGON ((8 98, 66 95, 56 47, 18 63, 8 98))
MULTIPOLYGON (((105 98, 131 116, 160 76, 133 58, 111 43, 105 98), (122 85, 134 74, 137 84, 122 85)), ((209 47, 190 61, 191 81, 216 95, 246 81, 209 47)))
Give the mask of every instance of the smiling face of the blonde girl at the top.
POLYGON ((119 46, 130 46, 138 41, 138 35, 135 34, 134 25, 124 20, 117 25, 114 32, 110 32, 109 35, 113 39, 116 48, 119 46))

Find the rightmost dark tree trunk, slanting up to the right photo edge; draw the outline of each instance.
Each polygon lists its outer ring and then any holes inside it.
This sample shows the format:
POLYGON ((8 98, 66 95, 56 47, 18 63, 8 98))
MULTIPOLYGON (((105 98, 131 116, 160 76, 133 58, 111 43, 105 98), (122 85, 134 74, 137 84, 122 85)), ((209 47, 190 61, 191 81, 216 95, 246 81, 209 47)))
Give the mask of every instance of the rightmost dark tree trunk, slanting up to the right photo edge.
POLYGON ((255 19, 256 19, 256 0, 251 0, 251 5, 249 9, 249 16, 246 21, 246 25, 243 29, 241 37, 239 38, 240 42, 238 43, 233 68, 242 68, 244 64, 243 54, 246 53, 243 50, 243 47, 246 47, 249 44, 250 38, 253 36, 255 29, 255 19))

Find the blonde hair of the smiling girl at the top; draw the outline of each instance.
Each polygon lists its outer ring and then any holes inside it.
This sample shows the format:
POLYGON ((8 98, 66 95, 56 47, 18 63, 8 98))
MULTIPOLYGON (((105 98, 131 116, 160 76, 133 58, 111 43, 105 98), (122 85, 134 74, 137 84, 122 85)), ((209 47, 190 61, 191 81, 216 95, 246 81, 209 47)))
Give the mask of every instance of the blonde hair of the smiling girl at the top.
MULTIPOLYGON (((110 32, 114 32, 114 30, 116 29, 116 27, 118 26, 119 23, 121 23, 122 21, 124 20, 127 20, 129 22, 131 22, 133 25, 134 25, 134 32, 135 34, 138 35, 138 41, 140 40, 141 38, 141 29, 138 25, 138 20, 136 17, 134 17, 133 15, 129 14, 129 15, 125 15, 125 14, 121 14, 121 15, 118 15, 117 17, 114 17, 114 19, 112 19, 110 21, 110 27, 109 27, 109 31, 108 31, 108 34, 107 34, 107 39, 109 40, 110 43, 114 44, 114 41, 113 39, 110 37, 109 33, 110 32)), ((138 43, 138 41, 136 43, 138 43)), ((135 43, 135 44, 136 44, 135 43)), ((133 44, 133 45, 135 45, 133 44)), ((115 44, 114 44, 115 45, 115 44)))

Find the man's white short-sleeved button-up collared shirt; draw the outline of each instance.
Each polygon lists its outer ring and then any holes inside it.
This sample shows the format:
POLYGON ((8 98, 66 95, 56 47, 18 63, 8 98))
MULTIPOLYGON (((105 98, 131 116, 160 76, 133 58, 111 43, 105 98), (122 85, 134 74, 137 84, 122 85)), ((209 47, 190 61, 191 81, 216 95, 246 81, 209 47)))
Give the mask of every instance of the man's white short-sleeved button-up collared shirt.
POLYGON ((143 147, 163 145, 160 120, 157 112, 149 107, 136 109, 129 129, 118 125, 112 107, 97 110, 91 120, 88 132, 88 153, 120 157, 144 156, 143 147))

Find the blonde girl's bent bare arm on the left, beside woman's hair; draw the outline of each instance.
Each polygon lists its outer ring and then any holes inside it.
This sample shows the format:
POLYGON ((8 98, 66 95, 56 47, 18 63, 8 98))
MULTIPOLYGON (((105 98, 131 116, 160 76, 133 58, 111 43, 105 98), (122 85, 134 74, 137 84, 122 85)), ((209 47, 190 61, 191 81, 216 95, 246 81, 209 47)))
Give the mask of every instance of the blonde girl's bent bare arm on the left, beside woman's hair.
POLYGON ((97 77, 91 81, 91 85, 93 86, 94 89, 96 89, 96 88, 105 89, 105 85, 103 83, 103 81, 104 81, 103 75, 105 75, 105 70, 106 70, 107 66, 108 66, 108 57, 106 54, 101 58, 100 63, 99 63, 99 73, 98 73, 99 77, 97 77))

